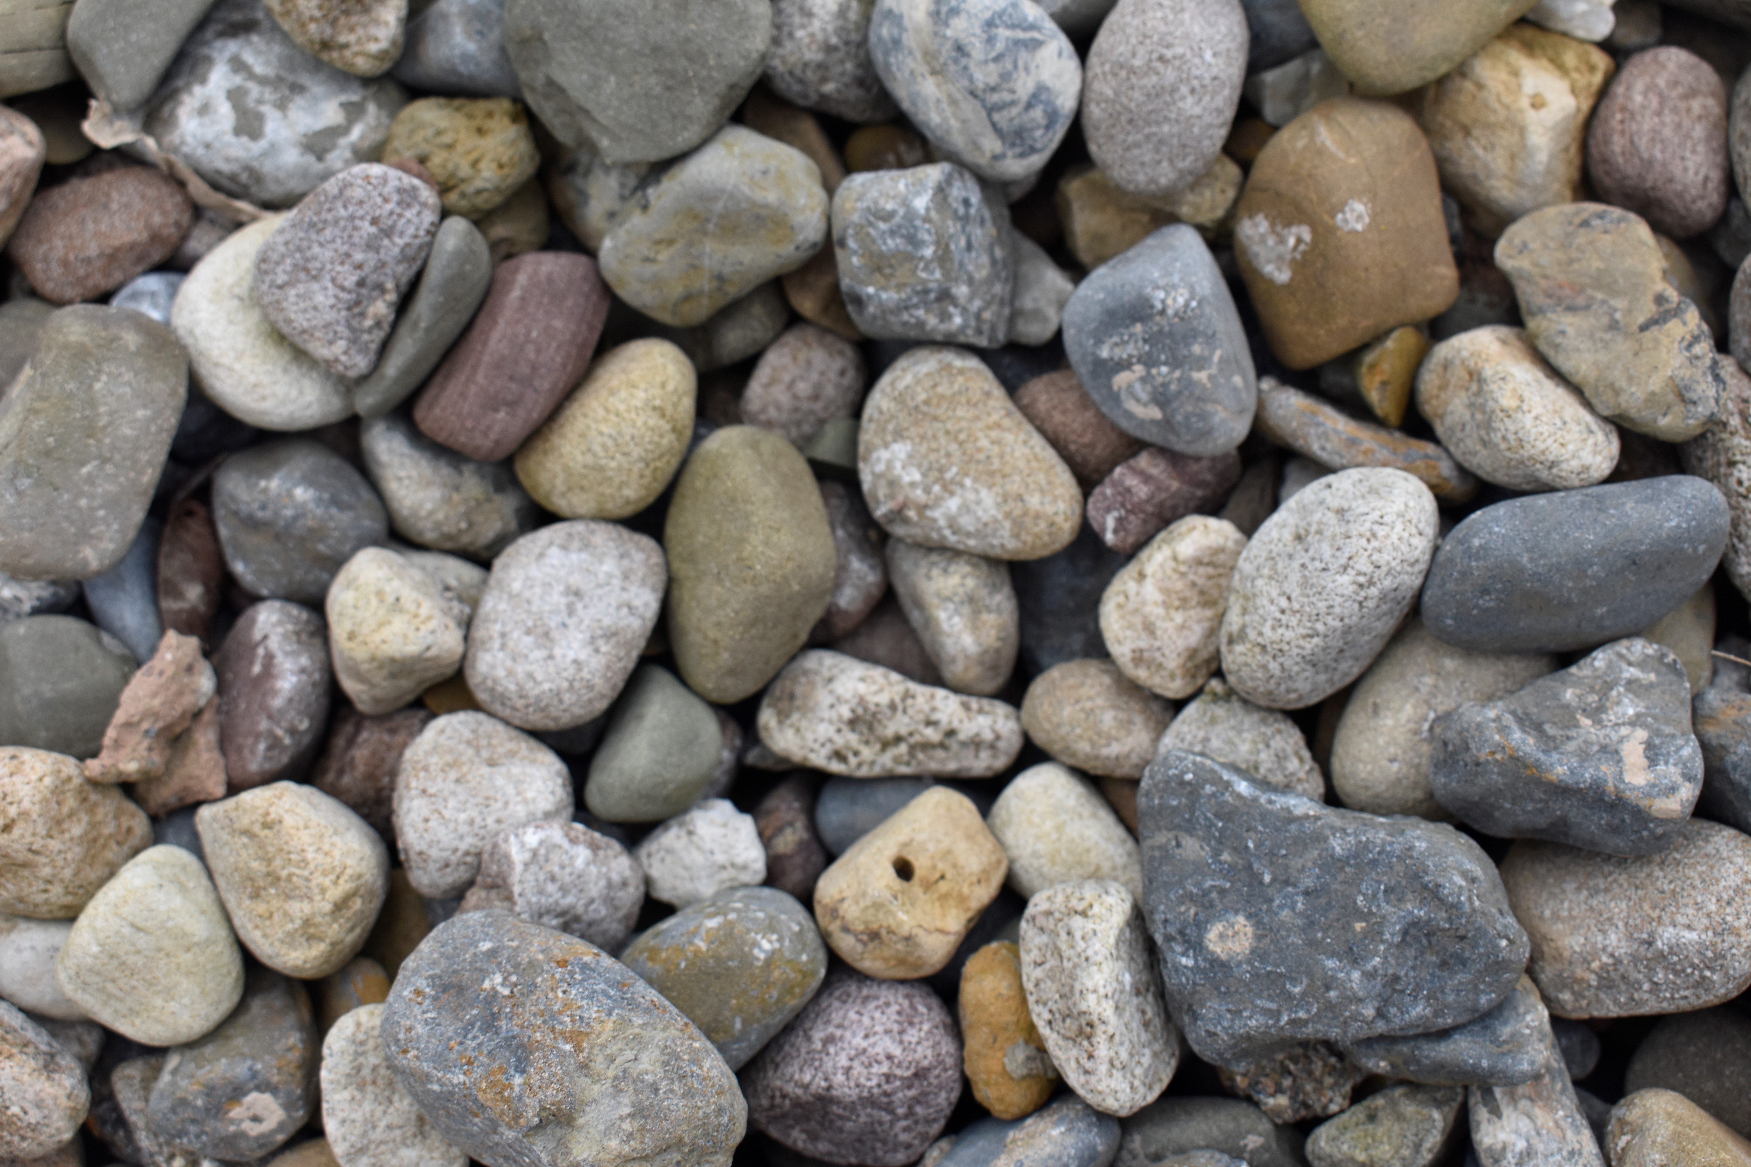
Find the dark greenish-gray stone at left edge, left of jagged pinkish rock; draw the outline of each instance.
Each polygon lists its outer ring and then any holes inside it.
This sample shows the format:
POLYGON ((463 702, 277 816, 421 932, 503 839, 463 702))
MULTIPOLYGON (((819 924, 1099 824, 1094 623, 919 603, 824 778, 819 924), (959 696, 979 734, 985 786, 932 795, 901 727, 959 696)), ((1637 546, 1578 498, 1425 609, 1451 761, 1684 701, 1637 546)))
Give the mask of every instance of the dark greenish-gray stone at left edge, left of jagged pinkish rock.
POLYGON ((0 745, 95 758, 135 660, 75 616, 0 625, 0 745))

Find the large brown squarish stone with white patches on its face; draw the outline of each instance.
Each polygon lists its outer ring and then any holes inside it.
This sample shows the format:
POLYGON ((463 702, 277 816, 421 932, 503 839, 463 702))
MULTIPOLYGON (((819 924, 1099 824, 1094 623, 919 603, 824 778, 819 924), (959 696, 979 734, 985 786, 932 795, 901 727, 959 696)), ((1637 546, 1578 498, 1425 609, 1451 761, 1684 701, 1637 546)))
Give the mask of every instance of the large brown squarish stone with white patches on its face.
POLYGON ((1459 294, 1434 156, 1411 115, 1385 101, 1333 98, 1278 129, 1234 213, 1240 275, 1290 369, 1436 317, 1459 294), (1340 140, 1348 152, 1326 147, 1340 140))

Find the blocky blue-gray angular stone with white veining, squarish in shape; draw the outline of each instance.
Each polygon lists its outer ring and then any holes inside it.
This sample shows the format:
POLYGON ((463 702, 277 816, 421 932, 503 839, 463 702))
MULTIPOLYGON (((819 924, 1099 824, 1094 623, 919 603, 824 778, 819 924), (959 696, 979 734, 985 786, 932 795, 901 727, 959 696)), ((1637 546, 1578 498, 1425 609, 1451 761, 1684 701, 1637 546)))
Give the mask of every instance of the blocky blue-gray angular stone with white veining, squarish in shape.
POLYGON ((839 289, 872 339, 996 348, 1009 339, 1009 212, 954 163, 846 178, 832 205, 839 289))

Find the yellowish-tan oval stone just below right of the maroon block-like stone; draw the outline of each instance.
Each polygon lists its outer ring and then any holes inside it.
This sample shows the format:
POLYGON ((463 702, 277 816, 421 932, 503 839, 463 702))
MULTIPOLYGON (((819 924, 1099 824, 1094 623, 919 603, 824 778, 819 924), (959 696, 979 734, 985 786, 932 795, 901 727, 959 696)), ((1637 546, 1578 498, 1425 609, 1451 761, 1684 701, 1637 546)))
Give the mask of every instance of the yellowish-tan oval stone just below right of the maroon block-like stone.
POLYGON ((517 478, 562 518, 637 514, 681 469, 697 390, 693 362, 671 341, 620 345, 517 451, 517 478))

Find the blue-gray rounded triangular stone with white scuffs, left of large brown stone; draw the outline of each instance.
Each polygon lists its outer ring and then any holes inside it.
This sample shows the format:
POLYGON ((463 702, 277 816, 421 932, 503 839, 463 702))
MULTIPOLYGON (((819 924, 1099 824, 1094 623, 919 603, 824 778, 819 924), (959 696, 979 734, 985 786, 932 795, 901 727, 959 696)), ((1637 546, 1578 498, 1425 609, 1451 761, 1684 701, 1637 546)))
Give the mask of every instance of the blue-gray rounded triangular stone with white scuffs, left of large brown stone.
POLYGON ((1089 399, 1133 437, 1206 458, 1252 429, 1247 332, 1208 245, 1182 222, 1077 285, 1065 352, 1089 399))

